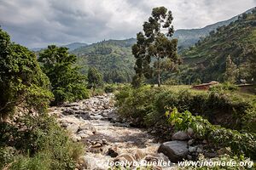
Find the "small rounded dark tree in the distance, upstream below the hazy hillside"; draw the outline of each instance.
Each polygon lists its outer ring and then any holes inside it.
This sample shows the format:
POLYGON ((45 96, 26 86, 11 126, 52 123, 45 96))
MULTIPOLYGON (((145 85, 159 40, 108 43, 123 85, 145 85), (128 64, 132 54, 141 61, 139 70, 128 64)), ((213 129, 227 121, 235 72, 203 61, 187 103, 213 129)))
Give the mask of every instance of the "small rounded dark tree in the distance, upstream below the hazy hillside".
POLYGON ((90 67, 87 77, 88 88, 95 89, 103 85, 102 74, 95 67, 90 67))

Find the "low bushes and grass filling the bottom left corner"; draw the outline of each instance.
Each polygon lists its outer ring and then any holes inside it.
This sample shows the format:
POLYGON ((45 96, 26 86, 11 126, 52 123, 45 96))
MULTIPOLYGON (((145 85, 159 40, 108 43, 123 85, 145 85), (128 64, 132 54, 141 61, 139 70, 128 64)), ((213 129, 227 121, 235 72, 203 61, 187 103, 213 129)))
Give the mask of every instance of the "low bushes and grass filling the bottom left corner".
POLYGON ((0 168, 73 169, 83 154, 53 117, 22 116, 17 124, 1 123, 0 168))

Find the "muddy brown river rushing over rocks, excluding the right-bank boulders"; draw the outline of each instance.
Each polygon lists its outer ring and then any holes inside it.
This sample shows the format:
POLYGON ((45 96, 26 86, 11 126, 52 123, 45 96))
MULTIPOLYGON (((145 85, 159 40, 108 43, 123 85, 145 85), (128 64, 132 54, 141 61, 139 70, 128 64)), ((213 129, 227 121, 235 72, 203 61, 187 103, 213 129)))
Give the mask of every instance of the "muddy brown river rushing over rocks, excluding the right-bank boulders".
MULTIPOLYGON (((160 144, 146 130, 119 121, 113 102, 113 94, 104 94, 50 108, 50 114, 57 116, 73 140, 85 145, 78 169, 108 169, 109 164, 117 161, 168 161, 164 154, 158 153, 160 144)), ((164 168, 154 166, 154 169, 164 168)))

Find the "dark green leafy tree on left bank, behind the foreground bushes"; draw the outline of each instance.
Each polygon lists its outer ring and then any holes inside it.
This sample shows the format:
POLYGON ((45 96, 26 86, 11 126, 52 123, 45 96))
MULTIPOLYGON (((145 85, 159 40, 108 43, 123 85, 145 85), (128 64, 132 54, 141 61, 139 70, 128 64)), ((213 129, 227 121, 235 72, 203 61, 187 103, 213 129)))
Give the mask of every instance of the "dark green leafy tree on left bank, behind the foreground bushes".
POLYGON ((85 77, 78 67, 73 66, 76 56, 68 54, 67 48, 48 46, 39 54, 38 61, 43 64, 42 70, 51 82, 55 104, 89 98, 85 77))

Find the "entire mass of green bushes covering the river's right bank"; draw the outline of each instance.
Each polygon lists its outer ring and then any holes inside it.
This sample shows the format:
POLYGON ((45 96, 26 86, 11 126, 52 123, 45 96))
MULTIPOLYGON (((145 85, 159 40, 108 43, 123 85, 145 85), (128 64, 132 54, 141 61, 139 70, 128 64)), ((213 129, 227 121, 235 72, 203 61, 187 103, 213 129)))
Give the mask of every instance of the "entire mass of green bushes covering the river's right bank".
POLYGON ((172 126, 182 130, 192 127, 200 138, 218 146, 229 146, 234 153, 253 158, 256 151, 255 98, 244 98, 231 87, 218 85, 206 92, 178 86, 127 86, 116 94, 116 105, 121 116, 144 127, 157 123, 170 127, 165 113, 173 109, 174 112, 168 114, 172 126))

